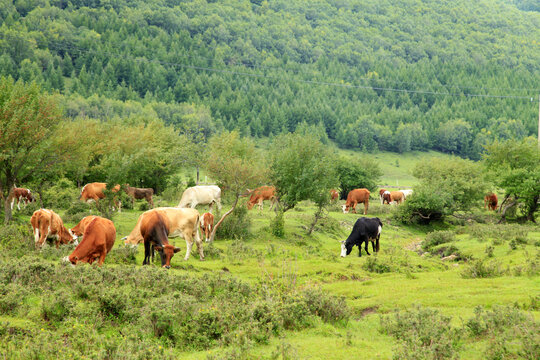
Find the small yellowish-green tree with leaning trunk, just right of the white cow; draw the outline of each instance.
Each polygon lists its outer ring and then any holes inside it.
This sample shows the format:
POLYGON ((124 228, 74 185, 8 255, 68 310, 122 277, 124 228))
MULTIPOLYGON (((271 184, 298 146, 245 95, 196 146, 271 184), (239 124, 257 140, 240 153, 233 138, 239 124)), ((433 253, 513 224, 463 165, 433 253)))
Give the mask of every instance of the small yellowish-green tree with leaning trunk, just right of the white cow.
POLYGON ((255 149, 253 141, 240 138, 238 132, 224 132, 210 139, 206 153, 207 171, 218 179, 218 185, 227 197, 232 199, 232 207, 216 223, 210 242, 214 241, 216 231, 236 206, 240 195, 247 188, 257 186, 266 178, 261 154, 255 149))

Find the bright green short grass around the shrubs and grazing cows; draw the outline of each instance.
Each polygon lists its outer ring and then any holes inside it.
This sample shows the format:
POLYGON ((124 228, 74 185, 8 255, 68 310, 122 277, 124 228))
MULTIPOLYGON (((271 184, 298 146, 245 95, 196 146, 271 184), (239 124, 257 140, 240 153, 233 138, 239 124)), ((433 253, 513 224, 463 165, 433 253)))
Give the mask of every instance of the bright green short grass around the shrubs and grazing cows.
MULTIPOLYGON (((386 153, 371 156, 380 160, 386 179, 397 180, 399 185, 411 186, 414 180, 408 171, 414 163, 429 157, 441 156, 434 153, 420 155, 425 156, 419 158, 418 154, 396 156, 386 153), (396 159, 399 159, 399 167, 395 166, 396 159)), ((160 206, 177 204, 177 201, 167 202, 159 197, 155 202, 160 206)), ((310 223, 315 207, 310 203, 300 203, 297 208, 285 214, 285 237, 276 238, 269 231, 270 220, 275 214, 269 211, 268 207, 268 204, 265 204, 262 212, 256 209, 248 212, 252 223, 250 238, 216 239, 213 244, 214 250, 211 253, 207 252, 204 262, 198 260, 195 248, 189 261, 183 261, 185 241, 172 239, 182 251, 173 257, 170 271, 163 272, 157 266, 150 266, 150 270, 173 277, 188 275, 194 279, 205 274, 226 276, 253 286, 274 284, 291 289, 320 288, 325 293, 343 296, 346 299, 351 314, 349 320, 332 324, 317 318, 310 326, 285 330, 279 335, 270 337, 267 343, 248 342, 244 345, 234 342, 233 345, 216 343, 204 350, 177 349, 168 341, 148 338, 148 335, 141 334, 140 337, 145 341, 144 346, 148 349, 142 349, 137 354, 143 354, 144 350, 147 351, 144 354, 150 354, 145 356, 158 356, 160 351, 166 350, 173 358, 183 359, 390 359, 401 353, 399 350, 401 343, 381 332, 380 318, 391 316, 396 310, 414 311, 416 306, 434 309, 444 316, 451 317, 451 326, 460 329, 466 321, 473 318, 475 308, 478 306, 485 309, 505 305, 517 306, 532 314, 536 320, 540 319, 539 226, 495 225, 490 223, 493 221, 493 214, 483 209, 473 211, 477 218, 484 219, 487 224, 456 226, 435 223, 429 227, 404 226, 392 219, 394 207, 382 206, 373 200, 368 216, 380 217, 384 223, 381 251, 371 256, 363 252, 362 257, 358 257, 355 248, 350 256, 340 258, 339 241, 348 236, 354 221, 362 215, 343 214, 339 204, 333 205, 329 212, 332 221, 324 227, 317 228, 313 236, 308 237, 305 227, 310 223), (496 261, 504 270, 504 274, 490 278, 466 278, 462 274, 470 266, 471 261, 446 262, 436 255, 436 251, 430 251, 432 255, 423 256, 412 251, 415 244, 420 243, 429 232, 435 230, 454 232, 455 237, 450 244, 460 253, 475 261, 496 261), (513 235, 517 230, 526 233, 518 242, 513 235), (486 252, 488 246, 492 247, 491 256, 486 252), (383 268, 384 272, 373 271, 383 268)), ((138 208, 137 203, 135 208, 138 208)), ((224 205, 223 211, 226 209, 227 205, 224 205)), ((199 211, 206 211, 206 208, 200 207, 199 211)), ((58 212, 63 215, 63 211, 58 212)), ((115 215, 114 223, 117 228, 115 248, 123 246, 120 239, 129 234, 140 213, 138 210, 124 210, 115 215)), ((29 227, 28 213, 26 215, 16 213, 15 221, 21 224, 19 226, 29 227)), ((68 222, 66 225, 71 227, 75 223, 68 222)), ((0 232, 1 230, 0 227, 0 232)), ((440 244, 434 249, 445 245, 449 244, 440 244)), ((209 245, 204 246, 205 250, 208 250, 209 245)), ((10 259, 12 256, 10 251, 12 250, 3 249, 2 256, 10 259)), ((30 251, 27 258, 38 258, 52 266, 60 267, 60 258, 70 251, 68 247, 58 252, 53 249, 42 252, 30 251)), ((143 256, 144 249, 139 246, 134 265, 124 265, 114 256, 107 257, 103 271, 111 272, 111 276, 116 270, 125 269, 126 266, 130 266, 133 271, 142 271, 143 256)), ((59 271, 62 269, 64 268, 60 267, 59 271)), ((111 289, 113 290, 117 289, 111 289)), ((0 324, 8 324, 8 328, 14 329, 10 330, 14 334, 39 333, 44 329, 43 331, 53 335, 62 332, 69 334, 68 324, 74 329, 79 326, 77 324, 83 324, 81 326, 92 328, 92 334, 99 334, 104 336, 102 339, 106 339, 105 345, 96 345, 97 347, 109 346, 115 341, 127 339, 118 332, 112 320, 68 318, 56 325, 43 320, 41 309, 44 301, 47 301, 43 294, 27 295, 18 311, 0 315, 0 324), (101 327, 95 327, 94 321, 101 324, 101 327)), ((77 311, 84 313, 84 309, 80 309, 82 305, 77 306, 79 307, 77 311)), ((0 334, 0 355, 12 349, 14 340, 10 340, 9 336, 16 335, 0 334)), ((486 349, 492 345, 490 341, 487 338, 464 334, 461 346, 454 351, 457 352, 458 358, 483 359, 486 349)), ((68 358, 67 355, 59 357, 68 358)), ((129 358, 129 355, 126 357, 129 358)))

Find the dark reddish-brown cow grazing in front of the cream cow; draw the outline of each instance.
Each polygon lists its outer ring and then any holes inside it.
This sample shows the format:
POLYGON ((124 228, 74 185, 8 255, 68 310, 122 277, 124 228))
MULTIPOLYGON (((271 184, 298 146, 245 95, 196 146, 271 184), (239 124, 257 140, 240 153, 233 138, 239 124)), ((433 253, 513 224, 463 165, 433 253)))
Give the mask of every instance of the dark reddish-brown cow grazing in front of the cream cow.
MULTIPOLYGON (((153 246, 161 256, 161 266, 169 269, 171 258, 181 250, 169 244, 169 221, 158 211, 150 211, 145 214, 146 216, 141 220, 141 235, 144 238, 143 265, 150 264, 150 255, 154 252, 153 249, 151 250, 151 246, 153 246)), ((195 232, 197 232, 197 228, 195 228, 195 232)))

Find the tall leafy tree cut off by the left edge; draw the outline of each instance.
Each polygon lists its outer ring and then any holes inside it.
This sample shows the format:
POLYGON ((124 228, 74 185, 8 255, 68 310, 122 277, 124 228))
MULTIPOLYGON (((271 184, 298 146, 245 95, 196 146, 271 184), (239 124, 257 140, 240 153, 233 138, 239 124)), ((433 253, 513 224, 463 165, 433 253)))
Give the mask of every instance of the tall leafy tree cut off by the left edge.
POLYGON ((77 141, 59 136, 62 117, 57 101, 43 94, 35 83, 0 78, 0 119, 0 190, 7 223, 11 220, 8 195, 13 186, 59 170, 70 159, 77 141))

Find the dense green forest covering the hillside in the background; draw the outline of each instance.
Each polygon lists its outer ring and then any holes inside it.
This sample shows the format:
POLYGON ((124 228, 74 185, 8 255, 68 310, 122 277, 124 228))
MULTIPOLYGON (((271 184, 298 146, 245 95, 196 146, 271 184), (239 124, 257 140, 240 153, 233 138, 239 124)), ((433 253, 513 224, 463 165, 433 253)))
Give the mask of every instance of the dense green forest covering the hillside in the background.
POLYGON ((540 12, 528 0, 0 0, 0 75, 72 118, 159 118, 347 148, 479 158, 536 133, 540 12))

